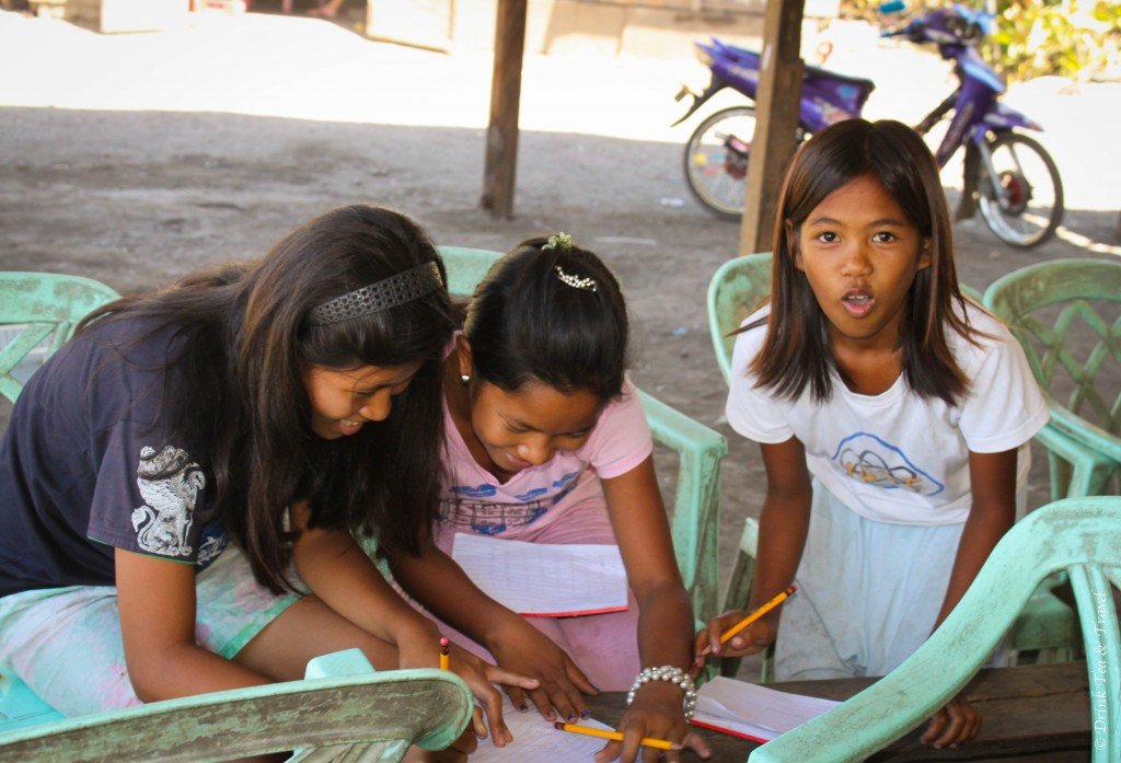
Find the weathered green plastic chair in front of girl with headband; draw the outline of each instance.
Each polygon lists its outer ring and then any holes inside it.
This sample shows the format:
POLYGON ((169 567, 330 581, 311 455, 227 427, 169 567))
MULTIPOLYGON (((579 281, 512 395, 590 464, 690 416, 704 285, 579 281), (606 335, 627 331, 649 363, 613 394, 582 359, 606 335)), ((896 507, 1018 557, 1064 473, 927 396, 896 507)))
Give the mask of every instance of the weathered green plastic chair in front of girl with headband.
POLYGON ((289 761, 395 763, 411 744, 443 750, 471 718, 471 692, 445 670, 374 672, 346 650, 312 660, 308 677, 7 733, 0 724, 0 763, 202 763, 293 750, 289 761))

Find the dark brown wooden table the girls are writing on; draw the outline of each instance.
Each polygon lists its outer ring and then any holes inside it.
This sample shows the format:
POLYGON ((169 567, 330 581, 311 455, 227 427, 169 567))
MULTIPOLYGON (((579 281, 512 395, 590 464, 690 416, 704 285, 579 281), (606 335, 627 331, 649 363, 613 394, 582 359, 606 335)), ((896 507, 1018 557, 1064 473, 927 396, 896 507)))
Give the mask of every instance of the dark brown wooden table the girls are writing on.
MULTIPOLYGON (((773 683, 781 691, 847 699, 876 681, 846 678, 828 681, 773 683)), ((981 714, 978 737, 957 750, 933 750, 918 742, 926 724, 877 753, 869 761, 1038 761, 1067 763, 1090 760, 1090 699, 1086 663, 1022 666, 982 670, 970 683, 966 696, 981 714)), ((590 698, 592 716, 618 725, 626 706, 622 692, 590 698)), ((747 761, 759 745, 728 734, 697 729, 712 747, 713 761, 747 761)), ((687 760, 700 760, 687 757, 687 760)))

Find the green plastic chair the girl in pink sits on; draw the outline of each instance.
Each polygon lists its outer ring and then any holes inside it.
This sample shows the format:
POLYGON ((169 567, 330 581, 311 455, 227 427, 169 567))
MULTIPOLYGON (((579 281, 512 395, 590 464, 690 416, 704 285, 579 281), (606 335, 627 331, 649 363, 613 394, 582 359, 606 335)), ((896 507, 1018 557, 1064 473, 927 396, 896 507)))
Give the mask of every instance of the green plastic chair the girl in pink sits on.
MULTIPOLYGON (((448 290, 470 296, 501 252, 461 246, 441 246, 447 268, 448 290)), ((674 552, 693 612, 705 621, 717 614, 720 587, 720 465, 728 441, 695 421, 639 390, 654 438, 678 455, 677 495, 673 512, 674 552)))

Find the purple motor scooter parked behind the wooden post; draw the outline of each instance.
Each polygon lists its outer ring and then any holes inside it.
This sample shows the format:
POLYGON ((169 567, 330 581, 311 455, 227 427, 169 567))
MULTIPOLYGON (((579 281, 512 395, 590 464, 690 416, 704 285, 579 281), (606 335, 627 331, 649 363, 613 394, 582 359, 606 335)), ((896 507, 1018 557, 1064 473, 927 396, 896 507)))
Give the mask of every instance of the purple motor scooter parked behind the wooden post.
MULTIPOLYGON (((901 2, 881 7, 893 11, 901 2)), ((1013 246, 1035 246, 1049 239, 1063 218, 1063 183, 1055 161, 1035 139, 1018 130, 1041 130, 1025 114, 1000 102, 1004 85, 976 53, 992 16, 963 6, 934 10, 882 37, 907 37, 912 43, 938 46, 943 58, 954 62, 961 81, 915 129, 925 134, 951 111, 953 118, 935 152, 945 166, 958 147, 965 147, 964 190, 956 217, 972 217, 978 210, 989 229, 1013 246)), ((679 124, 715 93, 732 87, 751 100, 759 84, 759 54, 713 38, 696 43, 697 57, 712 71, 703 93, 683 86, 677 100, 693 96, 679 124)), ((859 117, 874 90, 870 80, 850 77, 806 66, 798 114, 797 139, 845 119, 859 117)), ((743 213, 744 178, 756 130, 754 106, 732 106, 713 113, 685 146, 685 178, 689 190, 714 214, 729 220, 743 213)))

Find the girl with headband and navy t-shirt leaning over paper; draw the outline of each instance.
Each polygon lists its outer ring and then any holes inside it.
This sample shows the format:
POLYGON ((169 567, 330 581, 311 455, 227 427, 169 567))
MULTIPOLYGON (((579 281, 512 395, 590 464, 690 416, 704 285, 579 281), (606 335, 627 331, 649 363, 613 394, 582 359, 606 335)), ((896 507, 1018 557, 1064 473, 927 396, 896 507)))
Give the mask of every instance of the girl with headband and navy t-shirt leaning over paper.
MULTIPOLYGON (((436 667, 435 624, 352 534, 415 553, 435 519, 453 327, 430 241, 368 206, 93 313, 0 440, 0 663, 71 716, 353 646, 436 667)), ((452 667, 509 741, 490 680, 536 682, 452 667)))

